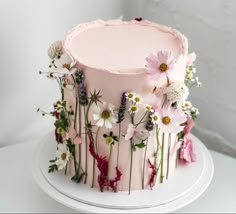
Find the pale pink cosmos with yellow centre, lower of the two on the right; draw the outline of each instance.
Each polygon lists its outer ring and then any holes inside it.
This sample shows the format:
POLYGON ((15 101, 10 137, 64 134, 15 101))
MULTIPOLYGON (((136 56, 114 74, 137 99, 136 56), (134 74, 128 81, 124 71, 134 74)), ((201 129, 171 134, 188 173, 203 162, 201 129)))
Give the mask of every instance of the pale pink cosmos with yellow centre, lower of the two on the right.
POLYGON ((162 132, 177 134, 183 131, 184 126, 182 124, 186 121, 186 115, 180 108, 163 108, 160 117, 158 127, 162 132))

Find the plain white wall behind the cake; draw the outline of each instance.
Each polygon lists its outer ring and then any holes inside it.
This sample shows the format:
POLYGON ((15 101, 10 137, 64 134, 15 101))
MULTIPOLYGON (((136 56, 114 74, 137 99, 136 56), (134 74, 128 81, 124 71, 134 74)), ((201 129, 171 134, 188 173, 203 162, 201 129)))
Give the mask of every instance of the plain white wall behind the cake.
POLYGON ((0 0, 0 146, 35 140, 53 121, 36 113, 56 100, 57 85, 38 75, 47 48, 81 22, 144 17, 177 28, 198 54, 203 88, 192 92, 201 116, 194 133, 236 156, 236 1, 0 0))

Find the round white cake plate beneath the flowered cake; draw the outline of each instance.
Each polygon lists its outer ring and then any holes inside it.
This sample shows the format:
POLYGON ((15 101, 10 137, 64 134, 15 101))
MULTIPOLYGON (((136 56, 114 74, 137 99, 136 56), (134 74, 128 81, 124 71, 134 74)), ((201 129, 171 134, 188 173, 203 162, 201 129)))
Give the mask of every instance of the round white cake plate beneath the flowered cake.
POLYGON ((171 178, 154 190, 103 192, 76 184, 63 172, 48 173, 49 160, 56 150, 54 134, 39 142, 33 175, 45 193, 56 201, 81 212, 163 213, 180 209, 197 199, 209 186, 214 172, 213 160, 203 143, 192 135, 197 161, 179 167, 171 178))

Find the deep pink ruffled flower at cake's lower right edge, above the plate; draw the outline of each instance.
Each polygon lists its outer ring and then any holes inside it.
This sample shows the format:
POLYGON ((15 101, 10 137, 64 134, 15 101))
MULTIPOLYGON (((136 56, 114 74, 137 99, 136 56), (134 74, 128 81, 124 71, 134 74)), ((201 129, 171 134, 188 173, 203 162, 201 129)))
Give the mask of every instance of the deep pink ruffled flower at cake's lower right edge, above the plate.
POLYGON ((196 155, 193 151, 192 140, 188 137, 184 137, 184 143, 180 150, 180 159, 185 163, 196 161, 196 155))

